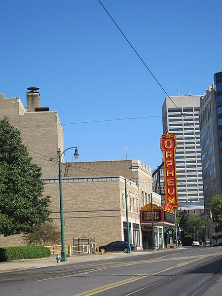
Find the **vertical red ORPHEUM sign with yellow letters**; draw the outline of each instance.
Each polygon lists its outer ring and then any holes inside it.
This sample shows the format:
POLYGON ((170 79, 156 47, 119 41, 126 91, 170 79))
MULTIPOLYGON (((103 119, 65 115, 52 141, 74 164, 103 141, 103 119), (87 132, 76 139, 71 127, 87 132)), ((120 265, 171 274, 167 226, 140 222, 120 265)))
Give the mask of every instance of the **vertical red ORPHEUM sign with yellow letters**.
POLYGON ((166 194, 166 205, 164 208, 170 212, 173 212, 173 209, 179 207, 177 197, 177 174, 175 160, 177 140, 175 135, 169 133, 162 135, 160 138, 160 147, 163 151, 164 163, 164 179, 166 194))

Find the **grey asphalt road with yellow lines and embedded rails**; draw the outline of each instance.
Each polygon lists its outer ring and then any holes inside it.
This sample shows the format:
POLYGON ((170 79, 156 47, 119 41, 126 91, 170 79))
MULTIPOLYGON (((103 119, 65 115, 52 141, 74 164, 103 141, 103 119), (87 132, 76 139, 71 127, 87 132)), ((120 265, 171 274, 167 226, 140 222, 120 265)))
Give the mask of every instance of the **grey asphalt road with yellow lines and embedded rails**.
POLYGON ((214 296, 222 247, 194 247, 0 274, 2 296, 214 296))

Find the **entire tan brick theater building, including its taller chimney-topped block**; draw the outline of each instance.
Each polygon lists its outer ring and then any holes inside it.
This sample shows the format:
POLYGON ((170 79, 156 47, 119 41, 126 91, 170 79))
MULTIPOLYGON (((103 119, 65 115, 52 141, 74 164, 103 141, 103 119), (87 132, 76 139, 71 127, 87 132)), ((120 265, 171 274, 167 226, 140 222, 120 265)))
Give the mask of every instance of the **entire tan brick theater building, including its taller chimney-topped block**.
MULTIPOLYGON (((52 218, 60 224, 57 150, 64 146, 57 112, 40 107, 40 95, 32 90, 27 93, 27 108, 19 98, 0 95, 0 118, 5 115, 21 131, 30 155, 42 168, 44 194, 51 195, 52 218)), ((140 224, 140 208, 150 203, 152 192, 147 165, 138 159, 72 162, 63 163, 62 171, 66 243, 82 236, 95 238, 97 245, 126 240, 126 177, 131 242, 139 249, 151 247, 151 228, 140 224)), ((161 205, 158 194, 153 194, 153 203, 161 205)), ((156 246, 162 245, 162 239, 163 227, 155 227, 156 246)), ((8 245, 21 245, 21 236, 1 236, 0 246, 8 245)))

